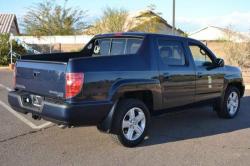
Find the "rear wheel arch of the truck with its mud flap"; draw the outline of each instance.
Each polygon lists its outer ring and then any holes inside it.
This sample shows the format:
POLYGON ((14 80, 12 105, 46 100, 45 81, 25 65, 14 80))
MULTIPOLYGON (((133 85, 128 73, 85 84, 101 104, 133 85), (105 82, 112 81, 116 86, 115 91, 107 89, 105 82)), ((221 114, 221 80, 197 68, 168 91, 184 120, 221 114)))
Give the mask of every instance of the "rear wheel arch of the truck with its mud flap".
POLYGON ((98 129, 105 132, 112 133, 112 122, 116 107, 123 99, 138 99, 142 101, 149 109, 150 114, 159 105, 161 105, 161 93, 159 91, 159 85, 155 82, 127 82, 120 85, 113 85, 109 95, 110 100, 113 101, 113 106, 109 111, 109 114, 105 119, 97 126, 98 129))

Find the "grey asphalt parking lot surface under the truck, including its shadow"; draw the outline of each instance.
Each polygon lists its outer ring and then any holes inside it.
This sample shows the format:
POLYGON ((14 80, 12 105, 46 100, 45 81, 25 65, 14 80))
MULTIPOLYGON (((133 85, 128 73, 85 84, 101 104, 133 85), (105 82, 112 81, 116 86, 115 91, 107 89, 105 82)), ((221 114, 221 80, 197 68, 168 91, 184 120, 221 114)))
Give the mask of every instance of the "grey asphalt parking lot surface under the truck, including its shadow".
POLYGON ((13 114, 11 87, 12 72, 0 70, 1 166, 250 165, 250 91, 235 119, 219 119, 210 107, 161 115, 143 144, 125 148, 94 126, 61 129, 13 114))

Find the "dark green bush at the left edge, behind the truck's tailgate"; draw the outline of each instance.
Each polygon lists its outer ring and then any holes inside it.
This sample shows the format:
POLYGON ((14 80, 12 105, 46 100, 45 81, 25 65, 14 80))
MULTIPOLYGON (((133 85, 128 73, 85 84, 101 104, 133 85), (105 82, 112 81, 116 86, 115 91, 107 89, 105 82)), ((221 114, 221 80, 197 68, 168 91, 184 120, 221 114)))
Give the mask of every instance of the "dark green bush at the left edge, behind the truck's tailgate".
MULTIPOLYGON (((13 52, 24 55, 26 53, 25 49, 18 45, 17 42, 12 41, 12 50, 13 52)), ((9 35, 2 34, 0 35, 0 65, 8 65, 10 63, 10 44, 9 44, 9 35)), ((14 61, 17 57, 13 57, 14 61)))

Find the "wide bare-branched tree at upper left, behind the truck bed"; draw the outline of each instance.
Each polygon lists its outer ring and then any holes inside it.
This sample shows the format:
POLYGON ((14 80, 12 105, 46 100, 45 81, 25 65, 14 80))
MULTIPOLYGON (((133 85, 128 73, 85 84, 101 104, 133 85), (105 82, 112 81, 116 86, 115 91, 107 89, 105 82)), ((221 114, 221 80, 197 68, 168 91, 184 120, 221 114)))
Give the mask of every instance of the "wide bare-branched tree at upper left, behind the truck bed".
POLYGON ((86 11, 56 4, 55 0, 45 0, 28 8, 23 17, 23 27, 27 34, 41 35, 75 35, 86 27, 86 11))

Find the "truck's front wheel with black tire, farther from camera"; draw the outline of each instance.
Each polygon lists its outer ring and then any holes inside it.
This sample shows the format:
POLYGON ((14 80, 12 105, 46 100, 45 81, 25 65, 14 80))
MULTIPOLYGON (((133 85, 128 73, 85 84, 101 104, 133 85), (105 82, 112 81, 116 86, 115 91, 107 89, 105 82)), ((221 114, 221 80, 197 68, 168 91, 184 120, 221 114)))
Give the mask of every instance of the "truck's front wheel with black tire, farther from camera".
POLYGON ((240 110, 240 92, 238 88, 230 86, 227 88, 224 97, 215 106, 215 111, 220 118, 232 119, 240 110))

